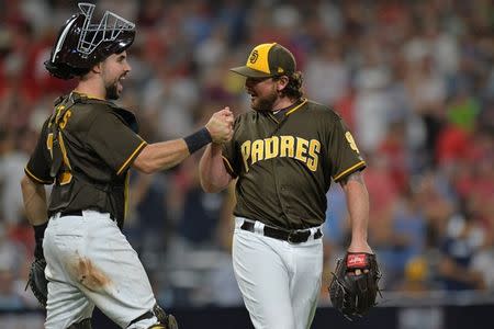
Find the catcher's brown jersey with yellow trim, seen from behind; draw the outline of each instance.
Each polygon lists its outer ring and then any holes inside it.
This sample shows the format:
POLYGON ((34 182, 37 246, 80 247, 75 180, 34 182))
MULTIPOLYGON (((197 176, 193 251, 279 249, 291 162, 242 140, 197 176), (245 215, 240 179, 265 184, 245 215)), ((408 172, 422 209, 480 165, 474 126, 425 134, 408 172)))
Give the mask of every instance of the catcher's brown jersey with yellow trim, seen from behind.
MULTIPOLYGON (((122 226, 127 202, 128 167, 146 146, 137 135, 132 112, 106 101, 72 93, 74 105, 55 109, 63 164, 50 177, 54 136, 50 120, 43 125, 25 173, 40 183, 53 184, 48 216, 61 211, 97 209, 110 213, 122 226), (65 111, 64 111, 65 110, 65 111)), ((67 100, 67 99, 65 99, 67 100)))

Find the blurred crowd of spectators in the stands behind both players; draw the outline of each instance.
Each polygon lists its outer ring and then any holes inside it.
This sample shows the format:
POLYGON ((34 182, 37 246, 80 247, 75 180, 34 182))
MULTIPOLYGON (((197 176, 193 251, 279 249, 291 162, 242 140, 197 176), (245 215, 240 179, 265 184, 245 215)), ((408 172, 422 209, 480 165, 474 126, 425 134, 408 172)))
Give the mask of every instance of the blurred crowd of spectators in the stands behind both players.
MULTIPOLYGON (((386 291, 494 290, 494 5, 490 0, 100 0, 137 25, 119 103, 148 141, 186 136, 214 111, 249 111, 228 68, 278 42, 305 97, 335 109, 368 161, 369 242, 386 291)), ((53 101, 72 81, 43 61, 77 1, 0 0, 0 308, 24 292, 34 249, 20 180, 53 101)), ((166 306, 242 305, 231 264, 233 189, 205 194, 200 154, 132 174, 124 232, 166 306)), ((48 189, 49 191, 49 189, 48 189)), ((325 285, 348 245, 345 197, 328 192, 325 285)))

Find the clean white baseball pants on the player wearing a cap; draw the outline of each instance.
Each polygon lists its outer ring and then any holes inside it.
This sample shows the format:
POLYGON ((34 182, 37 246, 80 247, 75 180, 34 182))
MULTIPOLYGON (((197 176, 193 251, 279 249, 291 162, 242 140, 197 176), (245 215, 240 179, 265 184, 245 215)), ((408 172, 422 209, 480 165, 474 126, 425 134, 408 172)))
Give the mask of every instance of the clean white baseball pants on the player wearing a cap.
POLYGON ((255 232, 240 229, 235 219, 233 266, 256 329, 311 327, 321 291, 323 239, 302 243, 265 237, 262 224, 255 232))

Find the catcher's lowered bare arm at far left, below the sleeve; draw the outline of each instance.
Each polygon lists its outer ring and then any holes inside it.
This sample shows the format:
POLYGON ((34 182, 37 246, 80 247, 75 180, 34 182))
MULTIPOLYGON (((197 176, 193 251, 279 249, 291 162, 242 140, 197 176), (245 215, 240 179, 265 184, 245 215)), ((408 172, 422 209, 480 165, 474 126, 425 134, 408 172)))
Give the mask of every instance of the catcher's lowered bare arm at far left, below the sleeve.
POLYGON ((48 220, 45 186, 24 175, 21 190, 27 220, 33 226, 45 224, 48 220))

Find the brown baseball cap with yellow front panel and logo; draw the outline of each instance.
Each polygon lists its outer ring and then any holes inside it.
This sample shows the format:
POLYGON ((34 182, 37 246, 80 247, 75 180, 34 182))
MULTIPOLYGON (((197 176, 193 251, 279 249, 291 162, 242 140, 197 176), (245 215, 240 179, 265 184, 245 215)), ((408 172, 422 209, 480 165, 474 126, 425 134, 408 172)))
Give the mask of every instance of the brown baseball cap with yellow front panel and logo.
POLYGON ((295 57, 289 49, 277 43, 256 46, 245 66, 234 67, 231 71, 247 78, 269 78, 290 75, 296 69, 295 57))

